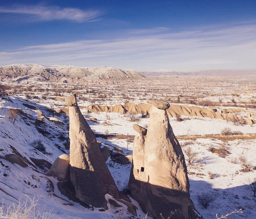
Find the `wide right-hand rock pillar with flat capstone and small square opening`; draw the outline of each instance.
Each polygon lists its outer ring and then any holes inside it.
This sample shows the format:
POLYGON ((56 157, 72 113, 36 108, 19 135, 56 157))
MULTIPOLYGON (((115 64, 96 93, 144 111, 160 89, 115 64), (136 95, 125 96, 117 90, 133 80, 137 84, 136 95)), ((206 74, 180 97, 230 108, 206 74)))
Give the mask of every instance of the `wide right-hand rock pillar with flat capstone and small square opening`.
POLYGON ((171 211, 175 219, 200 218, 190 199, 186 163, 169 123, 167 103, 151 103, 147 134, 134 138, 131 197, 157 219, 162 219, 160 213, 167 218, 171 211))

